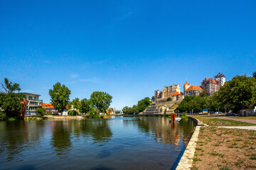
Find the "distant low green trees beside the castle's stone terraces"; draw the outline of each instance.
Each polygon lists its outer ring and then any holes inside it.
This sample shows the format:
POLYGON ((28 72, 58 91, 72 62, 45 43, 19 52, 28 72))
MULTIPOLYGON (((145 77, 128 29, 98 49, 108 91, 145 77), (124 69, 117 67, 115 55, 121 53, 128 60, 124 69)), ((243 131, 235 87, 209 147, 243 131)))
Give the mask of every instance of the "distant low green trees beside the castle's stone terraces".
POLYGON ((148 97, 138 101, 137 105, 132 106, 132 108, 129 108, 128 106, 125 106, 122 111, 124 114, 137 114, 139 112, 142 112, 146 109, 147 106, 151 104, 151 101, 148 97))

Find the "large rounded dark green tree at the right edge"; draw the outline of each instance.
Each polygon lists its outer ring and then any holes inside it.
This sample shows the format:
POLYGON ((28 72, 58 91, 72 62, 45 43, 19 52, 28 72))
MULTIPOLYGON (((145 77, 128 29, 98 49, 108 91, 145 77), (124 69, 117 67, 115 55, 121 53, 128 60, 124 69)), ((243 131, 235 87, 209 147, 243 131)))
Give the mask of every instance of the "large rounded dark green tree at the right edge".
POLYGON ((256 104, 256 79, 246 75, 235 76, 226 81, 218 91, 219 102, 234 112, 253 108, 256 104))

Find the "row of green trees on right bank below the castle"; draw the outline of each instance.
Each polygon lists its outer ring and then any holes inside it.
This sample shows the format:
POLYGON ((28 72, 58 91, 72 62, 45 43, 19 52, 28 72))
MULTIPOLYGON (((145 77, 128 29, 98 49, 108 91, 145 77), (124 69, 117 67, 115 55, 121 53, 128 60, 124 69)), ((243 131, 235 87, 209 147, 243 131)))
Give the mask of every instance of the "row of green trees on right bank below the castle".
POLYGON ((256 106, 256 72, 253 77, 246 75, 235 76, 226 81, 220 91, 213 96, 186 96, 179 104, 177 110, 180 112, 193 111, 194 113, 208 109, 210 111, 233 111, 237 113, 241 109, 256 106))

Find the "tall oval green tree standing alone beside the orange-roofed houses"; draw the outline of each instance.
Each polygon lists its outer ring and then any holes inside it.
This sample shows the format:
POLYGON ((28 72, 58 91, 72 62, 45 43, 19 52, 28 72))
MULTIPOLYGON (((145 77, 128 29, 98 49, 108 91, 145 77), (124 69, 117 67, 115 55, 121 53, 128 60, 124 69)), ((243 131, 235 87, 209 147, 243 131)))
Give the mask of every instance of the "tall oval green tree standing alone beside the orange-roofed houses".
POLYGON ((59 82, 53 85, 53 89, 49 90, 50 101, 54 108, 60 113, 65 110, 66 106, 68 106, 70 94, 70 89, 68 89, 64 84, 61 86, 59 82))

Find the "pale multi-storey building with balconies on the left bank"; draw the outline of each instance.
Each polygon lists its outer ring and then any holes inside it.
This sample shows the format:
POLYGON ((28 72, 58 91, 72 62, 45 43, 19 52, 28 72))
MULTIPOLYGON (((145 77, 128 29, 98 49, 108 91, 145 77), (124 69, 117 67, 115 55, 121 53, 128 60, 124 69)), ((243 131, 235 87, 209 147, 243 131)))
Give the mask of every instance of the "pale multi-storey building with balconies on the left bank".
POLYGON ((31 115, 40 115, 37 113, 36 108, 42 107, 42 100, 39 100, 38 94, 29 94, 29 93, 23 93, 26 97, 26 113, 25 116, 31 116, 31 115))

